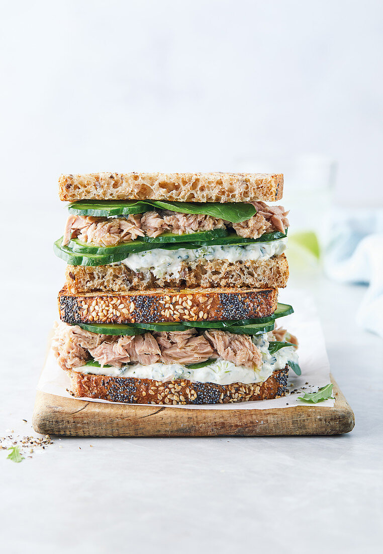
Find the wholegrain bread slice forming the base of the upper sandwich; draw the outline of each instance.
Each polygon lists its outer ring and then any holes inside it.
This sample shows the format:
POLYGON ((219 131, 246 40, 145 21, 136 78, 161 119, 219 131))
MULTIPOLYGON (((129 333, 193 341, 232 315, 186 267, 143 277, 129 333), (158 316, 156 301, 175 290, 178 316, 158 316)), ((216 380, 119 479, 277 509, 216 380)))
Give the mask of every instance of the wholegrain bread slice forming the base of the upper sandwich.
POLYGON ((66 285, 70 293, 93 291, 123 293, 129 290, 155 288, 284 288, 288 280, 285 254, 268 260, 245 260, 234 263, 228 260, 183 261, 180 275, 156 277, 153 271, 136 273, 127 265, 67 265, 66 285))

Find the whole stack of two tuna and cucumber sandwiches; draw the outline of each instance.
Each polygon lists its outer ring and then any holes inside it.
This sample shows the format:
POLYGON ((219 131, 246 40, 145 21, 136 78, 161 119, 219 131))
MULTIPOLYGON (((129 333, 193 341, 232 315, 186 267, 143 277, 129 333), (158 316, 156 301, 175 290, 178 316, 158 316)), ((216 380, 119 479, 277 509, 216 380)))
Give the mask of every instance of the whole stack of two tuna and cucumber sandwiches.
POLYGON ((215 404, 284 396, 297 341, 282 175, 63 175, 53 350, 75 397, 215 404))

